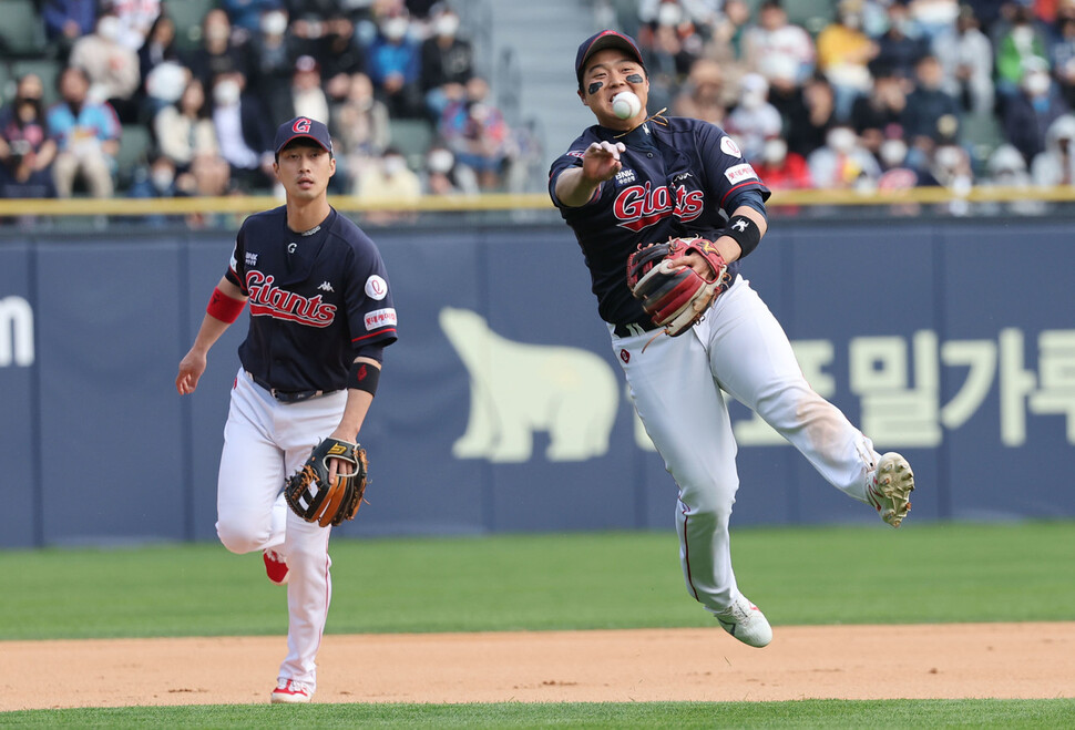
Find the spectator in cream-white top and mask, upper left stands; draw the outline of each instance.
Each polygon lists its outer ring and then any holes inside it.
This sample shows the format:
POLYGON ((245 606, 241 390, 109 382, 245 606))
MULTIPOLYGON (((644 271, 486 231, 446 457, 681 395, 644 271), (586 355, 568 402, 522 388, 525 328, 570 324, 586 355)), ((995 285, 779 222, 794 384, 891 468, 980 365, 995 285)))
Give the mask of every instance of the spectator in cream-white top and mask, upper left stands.
POLYGON ((112 12, 101 13, 94 32, 75 41, 70 63, 90 79, 89 97, 109 102, 122 123, 139 119, 135 92, 142 81, 139 54, 120 42, 122 27, 112 12))

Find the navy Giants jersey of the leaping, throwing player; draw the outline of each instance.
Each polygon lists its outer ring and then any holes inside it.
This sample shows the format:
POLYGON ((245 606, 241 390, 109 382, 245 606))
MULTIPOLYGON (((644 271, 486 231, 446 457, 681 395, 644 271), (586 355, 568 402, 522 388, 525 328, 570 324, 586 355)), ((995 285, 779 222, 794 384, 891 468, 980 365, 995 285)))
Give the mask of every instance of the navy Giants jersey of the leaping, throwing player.
MULTIPOLYGON (((669 236, 714 239, 745 198, 760 197, 764 203, 769 197, 769 189, 720 127, 685 117, 667 122, 646 122, 620 137, 615 130, 591 126, 550 169, 549 192, 582 247, 597 312, 613 325, 653 327, 627 288, 627 257, 639 244, 669 236), (626 145, 620 155, 622 168, 601 184, 587 204, 562 205, 555 193, 560 174, 582 166, 586 148, 603 141, 626 145)), ((739 261, 728 270, 737 274, 739 261)))

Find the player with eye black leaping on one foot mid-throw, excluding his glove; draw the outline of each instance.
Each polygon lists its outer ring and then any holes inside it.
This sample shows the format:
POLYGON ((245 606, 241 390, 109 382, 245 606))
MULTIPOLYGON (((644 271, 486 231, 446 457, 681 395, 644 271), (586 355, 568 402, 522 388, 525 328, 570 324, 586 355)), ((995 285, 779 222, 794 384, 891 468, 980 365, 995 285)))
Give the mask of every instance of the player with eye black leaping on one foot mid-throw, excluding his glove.
MULTIPOLYGON (((829 483, 897 527, 911 506, 911 467, 900 454, 874 451, 813 392, 784 329, 739 275, 740 259, 766 233, 769 191, 735 142, 706 122, 649 116, 648 75, 627 35, 605 30, 586 39, 575 74, 597 124, 553 162, 549 191, 582 247, 638 417, 679 487, 687 589, 726 631, 764 647, 772 629, 731 568, 728 522, 739 479, 725 393, 761 415, 829 483), (626 264, 639 245, 688 236, 713 241, 705 248, 727 263, 730 286, 700 322, 667 337, 632 296, 626 264)), ((670 265, 703 278, 716 274, 698 253, 670 265)))

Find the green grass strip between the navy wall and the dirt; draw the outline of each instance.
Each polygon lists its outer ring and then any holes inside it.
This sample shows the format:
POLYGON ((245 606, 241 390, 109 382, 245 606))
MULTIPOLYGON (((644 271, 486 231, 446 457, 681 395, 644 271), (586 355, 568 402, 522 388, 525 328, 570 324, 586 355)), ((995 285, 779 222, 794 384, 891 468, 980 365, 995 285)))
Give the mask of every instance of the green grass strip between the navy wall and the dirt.
MULTIPOLYGON (((337 539, 329 633, 711 626, 674 532, 337 539)), ((775 625, 1075 619, 1075 523, 734 532, 775 625)), ((278 635, 259 554, 0 552, 0 639, 278 635)))

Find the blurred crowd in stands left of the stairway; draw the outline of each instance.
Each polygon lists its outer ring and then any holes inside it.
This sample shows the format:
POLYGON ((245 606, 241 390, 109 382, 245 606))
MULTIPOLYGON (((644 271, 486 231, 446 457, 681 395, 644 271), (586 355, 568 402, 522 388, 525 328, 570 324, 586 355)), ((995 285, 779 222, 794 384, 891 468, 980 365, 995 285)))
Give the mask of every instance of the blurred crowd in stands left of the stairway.
POLYGON ((475 70, 460 17, 421 0, 39 0, 60 68, 12 80, 0 107, 0 197, 173 197, 275 192, 276 126, 325 121, 329 192, 407 199, 500 191, 519 137, 475 70), (400 125, 424 130, 407 137, 400 125), (123 133, 146 130, 133 169, 123 133))

